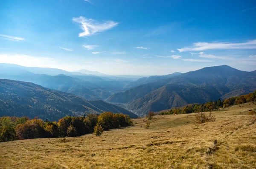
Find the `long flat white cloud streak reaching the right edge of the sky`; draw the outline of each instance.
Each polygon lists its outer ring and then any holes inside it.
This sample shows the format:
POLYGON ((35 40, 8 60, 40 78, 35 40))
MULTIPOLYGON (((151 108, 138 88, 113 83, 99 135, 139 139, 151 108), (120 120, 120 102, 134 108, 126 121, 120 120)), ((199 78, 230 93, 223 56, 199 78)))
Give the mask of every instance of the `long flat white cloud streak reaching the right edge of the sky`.
POLYGON ((256 49, 256 40, 251 40, 244 43, 194 43, 190 48, 177 49, 180 52, 186 51, 204 51, 209 49, 256 49))

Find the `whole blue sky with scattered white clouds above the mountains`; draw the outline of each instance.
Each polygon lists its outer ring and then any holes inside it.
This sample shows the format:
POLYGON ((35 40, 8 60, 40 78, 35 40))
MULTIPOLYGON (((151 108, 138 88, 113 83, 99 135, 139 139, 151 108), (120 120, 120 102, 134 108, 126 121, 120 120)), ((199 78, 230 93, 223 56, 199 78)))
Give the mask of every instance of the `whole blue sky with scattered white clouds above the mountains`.
POLYGON ((163 75, 256 70, 255 0, 1 0, 0 62, 163 75))

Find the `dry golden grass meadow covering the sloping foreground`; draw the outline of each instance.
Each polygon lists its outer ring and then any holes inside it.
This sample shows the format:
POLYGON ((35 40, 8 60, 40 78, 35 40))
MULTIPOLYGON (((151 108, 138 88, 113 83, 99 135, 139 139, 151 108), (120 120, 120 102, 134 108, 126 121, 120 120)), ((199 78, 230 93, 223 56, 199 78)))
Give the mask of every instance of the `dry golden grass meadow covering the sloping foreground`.
POLYGON ((134 127, 101 136, 44 138, 0 143, 0 168, 253 169, 256 168, 256 102, 212 112, 215 122, 196 124, 195 114, 143 118, 134 127), (142 127, 141 127, 142 126, 142 127))

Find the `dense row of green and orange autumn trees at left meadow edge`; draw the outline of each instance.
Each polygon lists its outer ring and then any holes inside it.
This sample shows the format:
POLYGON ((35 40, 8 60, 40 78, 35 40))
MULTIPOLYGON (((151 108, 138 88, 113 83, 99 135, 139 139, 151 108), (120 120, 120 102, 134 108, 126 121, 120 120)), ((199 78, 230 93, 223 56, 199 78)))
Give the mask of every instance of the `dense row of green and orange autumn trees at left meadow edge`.
POLYGON ((100 115, 65 116, 56 121, 44 121, 35 117, 0 117, 0 142, 31 138, 75 137, 95 132, 100 135, 104 130, 131 126, 128 115, 104 112, 100 115))

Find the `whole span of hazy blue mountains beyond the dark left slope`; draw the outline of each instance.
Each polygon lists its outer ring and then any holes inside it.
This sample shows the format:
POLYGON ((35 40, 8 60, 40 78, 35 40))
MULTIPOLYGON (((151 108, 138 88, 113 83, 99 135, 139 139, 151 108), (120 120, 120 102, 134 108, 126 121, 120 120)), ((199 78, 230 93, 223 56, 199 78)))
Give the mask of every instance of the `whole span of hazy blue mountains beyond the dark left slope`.
POLYGON ((109 76, 90 70, 67 72, 0 64, 0 79, 32 82, 89 100, 105 100, 137 115, 210 100, 226 99, 256 90, 256 71, 227 65, 164 76, 109 76), (60 74, 58 74, 60 73, 60 74), (92 73, 92 74, 84 74, 92 73))

